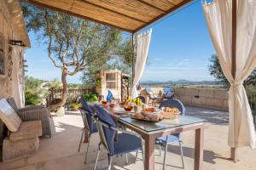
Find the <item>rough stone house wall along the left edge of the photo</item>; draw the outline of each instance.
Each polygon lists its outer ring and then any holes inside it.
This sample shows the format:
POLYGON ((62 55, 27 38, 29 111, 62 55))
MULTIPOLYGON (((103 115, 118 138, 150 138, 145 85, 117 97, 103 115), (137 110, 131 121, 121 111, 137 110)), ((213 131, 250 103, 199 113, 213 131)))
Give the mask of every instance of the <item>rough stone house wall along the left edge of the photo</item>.
MULTIPOLYGON (((26 47, 30 47, 19 2, 0 0, 0 99, 13 97, 18 107, 22 107, 25 102, 24 47, 9 43, 10 40, 19 40, 24 42, 26 47)), ((3 138, 6 134, 7 129, 0 120, 0 160, 2 159, 3 138)))

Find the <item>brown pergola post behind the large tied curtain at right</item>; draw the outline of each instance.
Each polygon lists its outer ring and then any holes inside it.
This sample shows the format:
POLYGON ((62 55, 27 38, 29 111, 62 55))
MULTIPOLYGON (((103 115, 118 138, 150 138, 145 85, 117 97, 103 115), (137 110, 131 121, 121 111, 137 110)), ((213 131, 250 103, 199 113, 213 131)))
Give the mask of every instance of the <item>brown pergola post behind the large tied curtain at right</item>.
MULTIPOLYGON (((236 78, 236 11, 237 11, 237 4, 236 0, 232 0, 232 76, 235 80, 236 78)), ((234 116, 234 122, 236 122, 236 116, 234 116)), ((236 126, 235 126, 236 131, 236 126)), ((230 150, 230 159, 232 161, 237 160, 237 150, 236 147, 231 147, 230 150)))

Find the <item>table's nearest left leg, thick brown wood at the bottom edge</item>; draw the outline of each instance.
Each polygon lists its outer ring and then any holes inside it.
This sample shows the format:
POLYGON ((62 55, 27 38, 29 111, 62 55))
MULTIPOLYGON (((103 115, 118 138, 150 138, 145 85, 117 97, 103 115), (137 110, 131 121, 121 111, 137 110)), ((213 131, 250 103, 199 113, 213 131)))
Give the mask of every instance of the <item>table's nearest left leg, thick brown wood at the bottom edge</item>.
POLYGON ((154 170, 154 140, 155 139, 150 136, 145 139, 145 170, 154 170))

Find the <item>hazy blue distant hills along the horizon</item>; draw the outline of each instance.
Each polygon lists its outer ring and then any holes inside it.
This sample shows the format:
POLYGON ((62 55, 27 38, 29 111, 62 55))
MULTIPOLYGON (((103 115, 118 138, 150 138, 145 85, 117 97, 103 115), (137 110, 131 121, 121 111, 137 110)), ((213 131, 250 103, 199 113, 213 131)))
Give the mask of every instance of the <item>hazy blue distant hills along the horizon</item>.
POLYGON ((189 80, 177 80, 177 81, 167 81, 167 82, 157 82, 157 81, 146 81, 141 82, 142 85, 222 85, 218 81, 189 81, 189 80))

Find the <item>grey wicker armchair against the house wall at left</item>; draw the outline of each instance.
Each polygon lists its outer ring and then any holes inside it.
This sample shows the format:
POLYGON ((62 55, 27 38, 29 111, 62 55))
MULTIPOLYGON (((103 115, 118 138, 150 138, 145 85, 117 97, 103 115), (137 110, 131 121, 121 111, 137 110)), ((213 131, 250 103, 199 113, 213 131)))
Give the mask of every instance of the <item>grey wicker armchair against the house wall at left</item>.
POLYGON ((9 98, 7 101, 23 122, 40 120, 42 122, 43 136, 49 135, 49 138, 51 137, 49 110, 44 105, 27 106, 18 109, 15 99, 9 98))

